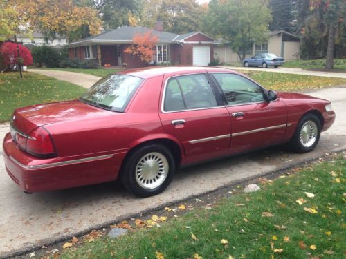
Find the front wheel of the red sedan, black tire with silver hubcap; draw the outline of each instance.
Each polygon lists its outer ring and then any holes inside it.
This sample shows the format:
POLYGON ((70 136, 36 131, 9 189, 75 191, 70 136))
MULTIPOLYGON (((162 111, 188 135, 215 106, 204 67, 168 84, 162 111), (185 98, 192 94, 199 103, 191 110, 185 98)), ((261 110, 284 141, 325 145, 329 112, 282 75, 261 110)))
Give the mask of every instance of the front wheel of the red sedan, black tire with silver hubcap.
POLYGON ((320 119, 312 113, 307 113, 300 119, 295 129, 290 142, 291 148, 297 153, 313 151, 320 140, 320 133, 320 119))

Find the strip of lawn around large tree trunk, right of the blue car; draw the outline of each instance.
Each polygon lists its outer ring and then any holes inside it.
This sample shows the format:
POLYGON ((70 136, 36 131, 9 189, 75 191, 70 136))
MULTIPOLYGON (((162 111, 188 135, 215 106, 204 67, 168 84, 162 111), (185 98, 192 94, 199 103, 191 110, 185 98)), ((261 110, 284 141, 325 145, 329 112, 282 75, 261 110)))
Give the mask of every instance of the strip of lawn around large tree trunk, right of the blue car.
MULTIPOLYGON (((325 59, 311 59, 311 60, 294 60, 286 61, 284 64, 286 68, 303 68, 303 69, 324 69, 325 59)), ((346 72, 346 59, 334 59, 334 68, 343 69, 346 72)))

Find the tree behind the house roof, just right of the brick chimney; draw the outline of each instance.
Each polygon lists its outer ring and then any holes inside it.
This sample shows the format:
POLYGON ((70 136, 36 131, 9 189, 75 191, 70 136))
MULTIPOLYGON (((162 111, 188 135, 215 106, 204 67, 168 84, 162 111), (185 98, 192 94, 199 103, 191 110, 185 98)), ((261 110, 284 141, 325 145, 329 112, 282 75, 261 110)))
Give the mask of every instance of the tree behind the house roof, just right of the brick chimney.
POLYGON ((163 0, 158 19, 168 32, 183 34, 199 31, 202 12, 194 0, 163 0))

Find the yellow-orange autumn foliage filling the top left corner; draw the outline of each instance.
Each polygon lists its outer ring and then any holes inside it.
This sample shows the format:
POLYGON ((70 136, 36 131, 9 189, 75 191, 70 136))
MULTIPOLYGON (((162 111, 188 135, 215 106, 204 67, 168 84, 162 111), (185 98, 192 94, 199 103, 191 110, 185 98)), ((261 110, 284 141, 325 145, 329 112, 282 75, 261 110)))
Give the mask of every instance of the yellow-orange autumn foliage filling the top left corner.
POLYGON ((1 28, 10 35, 39 30, 46 37, 55 33, 69 35, 81 26, 88 26, 91 35, 99 33, 101 20, 95 8, 78 6, 73 0, 1 0, 1 28))

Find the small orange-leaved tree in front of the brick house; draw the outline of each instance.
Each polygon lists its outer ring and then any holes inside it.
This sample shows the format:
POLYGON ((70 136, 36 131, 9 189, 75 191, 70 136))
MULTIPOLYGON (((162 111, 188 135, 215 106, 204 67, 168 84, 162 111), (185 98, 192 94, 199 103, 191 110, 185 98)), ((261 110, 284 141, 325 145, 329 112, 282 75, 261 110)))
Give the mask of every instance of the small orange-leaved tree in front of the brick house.
POLYGON ((158 36, 154 35, 152 30, 145 32, 144 35, 136 34, 133 37, 133 43, 125 49, 125 53, 136 55, 140 60, 149 63, 154 54, 153 48, 156 46, 158 36))

